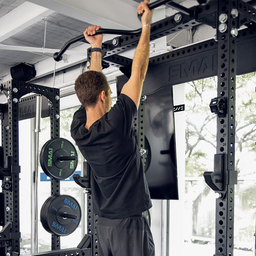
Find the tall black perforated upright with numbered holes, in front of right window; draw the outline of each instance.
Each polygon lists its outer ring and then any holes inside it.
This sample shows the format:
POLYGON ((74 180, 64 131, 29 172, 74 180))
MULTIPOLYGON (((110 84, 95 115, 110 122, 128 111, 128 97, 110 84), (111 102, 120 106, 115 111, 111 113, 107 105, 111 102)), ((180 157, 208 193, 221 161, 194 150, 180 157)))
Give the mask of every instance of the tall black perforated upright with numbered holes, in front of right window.
MULTIPOLYGON (((226 194, 216 199, 215 255, 233 256, 234 183, 231 181, 235 163, 235 91, 236 91, 236 38, 231 27, 238 28, 238 18, 231 16, 238 0, 218 1, 218 16, 227 15, 227 29, 218 30, 218 97, 226 98, 227 116, 217 116, 217 154, 227 154, 224 167, 226 194), (225 178, 227 177, 227 179, 225 178)), ((220 24, 220 23, 219 23, 220 24)), ((234 174, 234 173, 233 173, 234 174)), ((234 174, 235 175, 235 174, 234 174)))

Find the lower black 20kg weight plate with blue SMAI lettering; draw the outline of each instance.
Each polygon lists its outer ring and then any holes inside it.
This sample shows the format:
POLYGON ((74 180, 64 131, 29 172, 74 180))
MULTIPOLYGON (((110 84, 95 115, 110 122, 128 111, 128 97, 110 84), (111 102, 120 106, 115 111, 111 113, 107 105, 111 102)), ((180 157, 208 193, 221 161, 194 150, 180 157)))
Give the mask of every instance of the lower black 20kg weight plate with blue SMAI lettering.
POLYGON ((79 226, 81 207, 72 196, 53 195, 44 202, 40 219, 47 232, 57 236, 68 236, 79 226), (69 216, 65 217, 64 213, 69 216))

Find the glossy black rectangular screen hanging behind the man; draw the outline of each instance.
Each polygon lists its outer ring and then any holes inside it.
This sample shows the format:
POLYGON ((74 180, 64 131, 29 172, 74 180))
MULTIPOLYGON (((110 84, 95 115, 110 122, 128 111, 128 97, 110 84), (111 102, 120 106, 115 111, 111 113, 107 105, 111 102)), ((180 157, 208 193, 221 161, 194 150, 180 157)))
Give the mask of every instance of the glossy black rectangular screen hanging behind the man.
MULTIPOLYGON (((127 81, 126 76, 117 77, 117 95, 127 81)), ((146 87, 148 84, 144 82, 146 87)), ((178 199, 172 87, 163 86, 163 81, 159 80, 151 84, 149 91, 144 129, 151 150, 151 162, 145 173, 150 196, 152 199, 178 199)))

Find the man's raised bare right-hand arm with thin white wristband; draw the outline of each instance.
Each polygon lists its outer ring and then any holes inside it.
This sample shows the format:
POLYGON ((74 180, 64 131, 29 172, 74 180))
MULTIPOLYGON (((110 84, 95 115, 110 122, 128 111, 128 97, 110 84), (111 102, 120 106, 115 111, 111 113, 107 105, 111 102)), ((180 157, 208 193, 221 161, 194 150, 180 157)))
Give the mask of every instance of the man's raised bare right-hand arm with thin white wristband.
POLYGON ((141 23, 143 26, 142 33, 134 54, 134 60, 131 67, 131 77, 123 86, 121 91, 121 93, 129 96, 134 101, 137 109, 139 108, 143 81, 148 69, 150 23, 153 14, 153 10, 149 10, 148 4, 149 2, 144 0, 144 2, 140 3, 137 9, 138 14, 143 13, 141 17, 141 23))

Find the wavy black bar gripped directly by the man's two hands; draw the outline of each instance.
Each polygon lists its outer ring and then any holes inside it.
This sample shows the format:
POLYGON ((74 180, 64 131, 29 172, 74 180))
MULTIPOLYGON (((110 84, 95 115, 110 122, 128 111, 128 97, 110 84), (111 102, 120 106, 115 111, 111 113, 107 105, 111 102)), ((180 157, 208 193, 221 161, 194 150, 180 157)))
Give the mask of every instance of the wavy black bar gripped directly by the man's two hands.
MULTIPOLYGON (((148 5, 148 8, 151 9, 155 9, 156 7, 163 5, 167 2, 171 2, 170 0, 158 0, 155 1, 154 3, 150 3, 148 5)), ((111 34, 111 35, 139 35, 141 33, 142 29, 135 29, 135 30, 122 30, 122 29, 99 29, 96 31, 96 33, 94 35, 98 35, 98 34, 111 34)), ((62 54, 67 50, 67 48, 71 45, 74 44, 78 41, 81 41, 84 39, 84 34, 79 35, 73 39, 71 39, 70 41, 67 41, 66 44, 64 44, 64 46, 61 48, 61 50, 59 52, 55 52, 53 55, 53 58, 55 59, 55 61, 61 61, 62 59, 62 54)))

